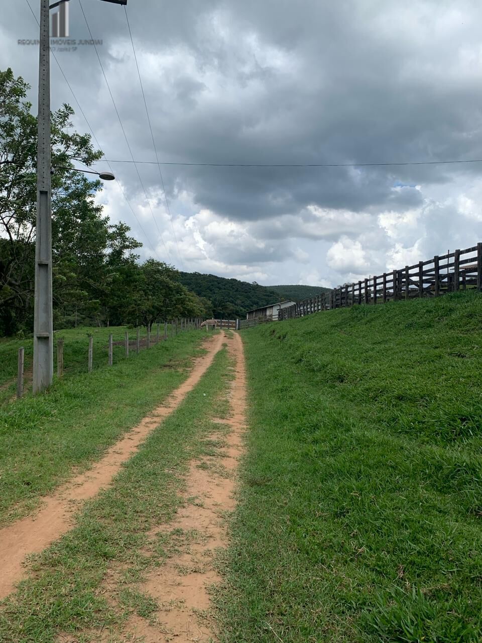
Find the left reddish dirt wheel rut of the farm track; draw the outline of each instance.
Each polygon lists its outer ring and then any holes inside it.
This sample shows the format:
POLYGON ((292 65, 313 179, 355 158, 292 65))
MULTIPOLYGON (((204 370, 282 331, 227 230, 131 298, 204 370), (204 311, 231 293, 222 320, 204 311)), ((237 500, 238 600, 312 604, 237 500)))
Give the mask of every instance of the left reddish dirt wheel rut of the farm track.
POLYGON ((52 496, 44 498, 44 506, 35 516, 27 516, 0 529, 0 600, 12 592, 15 584, 26 574, 22 566, 24 558, 28 554, 41 552, 71 529, 73 514, 79 504, 109 486, 121 464, 129 460, 151 431, 181 404, 210 367, 215 354, 221 349, 222 340, 221 335, 208 340, 205 343, 208 353, 195 361, 188 379, 164 404, 116 442, 102 460, 85 473, 75 476, 52 496))

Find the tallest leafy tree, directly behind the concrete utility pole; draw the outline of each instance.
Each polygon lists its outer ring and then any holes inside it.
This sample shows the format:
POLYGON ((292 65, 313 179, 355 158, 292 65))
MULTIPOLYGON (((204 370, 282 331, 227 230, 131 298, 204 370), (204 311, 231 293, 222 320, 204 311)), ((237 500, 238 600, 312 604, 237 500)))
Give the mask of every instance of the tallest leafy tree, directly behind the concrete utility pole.
MULTIPOLYGON (((12 69, 0 71, 0 334, 33 325, 37 118, 25 100, 29 86, 12 69)), ((123 223, 102 215, 100 181, 75 172, 102 157, 89 134, 72 130, 73 109, 51 115, 52 255, 55 320, 102 316, 122 269, 132 267, 141 244, 123 223), (67 169, 60 169, 66 167, 67 169)), ((117 295, 120 293, 118 292, 117 295)), ((107 319, 109 315, 107 315, 107 319)))

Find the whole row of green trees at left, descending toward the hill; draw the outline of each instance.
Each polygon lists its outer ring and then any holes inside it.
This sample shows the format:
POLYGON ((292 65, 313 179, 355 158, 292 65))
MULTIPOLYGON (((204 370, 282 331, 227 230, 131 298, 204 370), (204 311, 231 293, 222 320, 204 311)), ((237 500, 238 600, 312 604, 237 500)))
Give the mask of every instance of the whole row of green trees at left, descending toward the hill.
MULTIPOLYGON (((37 118, 29 86, 0 71, 0 336, 33 331, 37 118)), ((112 224, 95 202, 102 189, 73 171, 102 158, 91 137, 72 129, 73 109, 52 113, 53 313, 55 327, 150 325, 211 316, 210 302, 190 292, 174 267, 138 263, 141 244, 112 224), (60 169, 66 167, 67 169, 60 169)))

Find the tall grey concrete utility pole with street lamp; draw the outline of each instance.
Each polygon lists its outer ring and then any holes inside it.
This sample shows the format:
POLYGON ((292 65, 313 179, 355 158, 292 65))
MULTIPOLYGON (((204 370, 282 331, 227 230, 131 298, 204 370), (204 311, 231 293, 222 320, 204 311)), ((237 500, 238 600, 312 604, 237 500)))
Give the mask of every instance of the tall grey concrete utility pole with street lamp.
MULTIPOLYGON (((63 0, 68 2, 69 0, 63 0)), ((127 5, 127 0, 102 0, 127 5)), ((35 298, 33 308, 33 393, 53 379, 52 222, 50 158, 50 21, 49 0, 40 0, 39 122, 37 144, 37 222, 35 232, 35 298)), ((96 174, 96 173, 95 173, 96 174)), ((111 181, 110 172, 99 174, 111 181)))

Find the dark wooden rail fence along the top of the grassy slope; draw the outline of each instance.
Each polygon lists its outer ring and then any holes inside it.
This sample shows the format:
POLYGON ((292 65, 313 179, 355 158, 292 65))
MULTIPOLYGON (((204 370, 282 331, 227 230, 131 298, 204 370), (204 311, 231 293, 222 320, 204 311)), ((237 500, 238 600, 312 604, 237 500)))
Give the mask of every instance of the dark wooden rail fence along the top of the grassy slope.
POLYGON ((344 284, 281 309, 280 321, 304 317, 312 312, 353 306, 355 303, 386 303, 418 297, 438 297, 460 290, 482 290, 482 243, 447 255, 420 261, 413 266, 344 284))

